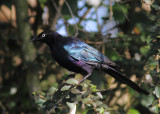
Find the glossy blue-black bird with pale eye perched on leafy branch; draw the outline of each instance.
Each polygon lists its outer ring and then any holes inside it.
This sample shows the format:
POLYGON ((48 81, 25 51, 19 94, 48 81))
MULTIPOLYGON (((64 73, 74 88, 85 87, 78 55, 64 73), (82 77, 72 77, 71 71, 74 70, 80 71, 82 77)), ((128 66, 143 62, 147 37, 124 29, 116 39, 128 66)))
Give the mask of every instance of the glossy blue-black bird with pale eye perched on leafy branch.
POLYGON ((83 80, 88 78, 94 69, 101 70, 139 93, 149 95, 148 91, 140 88, 136 83, 116 71, 114 68, 117 65, 114 62, 76 37, 63 37, 53 30, 46 30, 31 41, 46 43, 53 58, 69 71, 85 76, 83 80))

